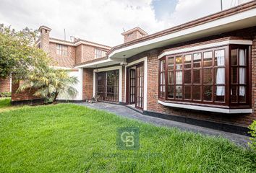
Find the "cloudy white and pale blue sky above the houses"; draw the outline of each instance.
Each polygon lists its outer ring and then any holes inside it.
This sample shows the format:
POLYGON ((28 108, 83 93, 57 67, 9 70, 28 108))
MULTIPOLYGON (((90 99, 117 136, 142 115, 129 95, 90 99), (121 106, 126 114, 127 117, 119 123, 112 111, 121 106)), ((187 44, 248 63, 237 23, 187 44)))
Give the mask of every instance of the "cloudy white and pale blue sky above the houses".
MULTIPOLYGON (((80 37, 104 45, 124 42, 121 32, 153 34, 221 11, 221 0, 0 0, 0 23, 15 30, 46 25, 51 37, 80 37)), ((223 0, 223 9, 238 0, 223 0)))

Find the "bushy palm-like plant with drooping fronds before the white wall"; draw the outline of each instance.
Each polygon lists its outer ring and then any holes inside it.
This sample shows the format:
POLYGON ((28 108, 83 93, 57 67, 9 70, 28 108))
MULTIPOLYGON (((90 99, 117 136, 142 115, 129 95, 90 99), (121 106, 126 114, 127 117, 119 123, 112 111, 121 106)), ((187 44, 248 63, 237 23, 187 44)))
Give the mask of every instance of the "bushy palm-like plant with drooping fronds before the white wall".
POLYGON ((44 99, 46 103, 55 102, 59 94, 66 98, 74 97, 77 94, 77 90, 73 86, 77 84, 78 80, 74 76, 69 76, 65 70, 35 68, 25 76, 23 81, 17 92, 35 89, 36 92, 33 95, 44 99))

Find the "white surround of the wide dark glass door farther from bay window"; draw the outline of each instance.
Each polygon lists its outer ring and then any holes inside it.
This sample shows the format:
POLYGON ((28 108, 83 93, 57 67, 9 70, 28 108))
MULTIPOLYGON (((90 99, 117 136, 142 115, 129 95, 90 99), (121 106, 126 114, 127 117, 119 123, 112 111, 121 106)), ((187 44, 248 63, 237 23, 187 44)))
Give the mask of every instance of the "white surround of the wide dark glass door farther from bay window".
POLYGON ((94 69, 93 70, 93 96, 95 96, 96 93, 96 73, 101 72, 101 71, 113 71, 113 70, 119 70, 119 102, 121 102, 121 89, 122 89, 122 66, 113 66, 113 67, 107 67, 107 68, 99 68, 99 69, 94 69))

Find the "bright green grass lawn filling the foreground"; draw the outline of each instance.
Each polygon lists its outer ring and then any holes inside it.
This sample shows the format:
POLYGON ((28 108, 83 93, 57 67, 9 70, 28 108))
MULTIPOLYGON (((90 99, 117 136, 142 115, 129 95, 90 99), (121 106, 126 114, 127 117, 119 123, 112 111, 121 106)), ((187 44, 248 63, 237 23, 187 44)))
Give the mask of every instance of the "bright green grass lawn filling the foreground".
POLYGON ((0 112, 0 172, 255 172, 255 163, 255 153, 223 138, 78 105, 0 112), (116 148, 119 127, 140 128, 140 150, 116 148))

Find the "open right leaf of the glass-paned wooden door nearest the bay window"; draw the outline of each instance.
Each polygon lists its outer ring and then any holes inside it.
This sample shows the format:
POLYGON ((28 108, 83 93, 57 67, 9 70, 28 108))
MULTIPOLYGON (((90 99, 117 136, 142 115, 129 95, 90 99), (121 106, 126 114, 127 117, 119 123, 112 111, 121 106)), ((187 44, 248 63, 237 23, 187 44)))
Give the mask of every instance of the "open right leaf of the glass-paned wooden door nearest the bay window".
POLYGON ((135 107, 143 109, 144 107, 144 64, 136 66, 135 71, 135 107))

